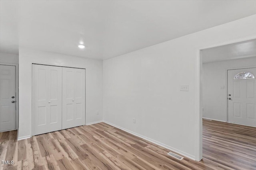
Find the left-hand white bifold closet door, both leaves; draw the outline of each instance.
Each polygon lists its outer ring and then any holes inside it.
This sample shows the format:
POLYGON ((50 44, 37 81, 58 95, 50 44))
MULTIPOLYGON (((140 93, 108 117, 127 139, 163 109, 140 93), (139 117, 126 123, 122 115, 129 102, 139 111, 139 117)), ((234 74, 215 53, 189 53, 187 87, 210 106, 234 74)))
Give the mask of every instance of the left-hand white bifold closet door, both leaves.
POLYGON ((62 67, 32 64, 32 135, 62 129, 62 67))

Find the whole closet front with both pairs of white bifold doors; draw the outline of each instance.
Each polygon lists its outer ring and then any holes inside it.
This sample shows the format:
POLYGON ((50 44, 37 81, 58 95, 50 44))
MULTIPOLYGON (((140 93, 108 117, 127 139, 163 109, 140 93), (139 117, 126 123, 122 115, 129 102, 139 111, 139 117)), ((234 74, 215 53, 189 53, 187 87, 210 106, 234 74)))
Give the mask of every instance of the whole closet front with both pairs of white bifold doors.
POLYGON ((85 125, 85 69, 32 64, 32 135, 85 125))

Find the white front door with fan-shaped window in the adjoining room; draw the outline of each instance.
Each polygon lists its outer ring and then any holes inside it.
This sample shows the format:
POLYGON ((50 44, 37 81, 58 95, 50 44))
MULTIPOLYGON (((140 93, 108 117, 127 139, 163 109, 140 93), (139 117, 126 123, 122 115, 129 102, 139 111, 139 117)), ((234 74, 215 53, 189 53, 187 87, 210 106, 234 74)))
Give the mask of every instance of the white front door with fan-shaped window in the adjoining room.
POLYGON ((256 68, 228 70, 228 122, 256 127, 255 76, 256 68))

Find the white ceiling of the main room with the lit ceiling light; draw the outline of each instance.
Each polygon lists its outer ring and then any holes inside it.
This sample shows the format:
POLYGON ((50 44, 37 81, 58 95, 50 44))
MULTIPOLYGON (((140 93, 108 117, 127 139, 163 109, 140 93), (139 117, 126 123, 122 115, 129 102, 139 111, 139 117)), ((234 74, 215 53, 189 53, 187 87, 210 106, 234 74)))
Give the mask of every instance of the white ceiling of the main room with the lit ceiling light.
POLYGON ((0 51, 108 59, 254 14, 255 0, 0 0, 0 51))

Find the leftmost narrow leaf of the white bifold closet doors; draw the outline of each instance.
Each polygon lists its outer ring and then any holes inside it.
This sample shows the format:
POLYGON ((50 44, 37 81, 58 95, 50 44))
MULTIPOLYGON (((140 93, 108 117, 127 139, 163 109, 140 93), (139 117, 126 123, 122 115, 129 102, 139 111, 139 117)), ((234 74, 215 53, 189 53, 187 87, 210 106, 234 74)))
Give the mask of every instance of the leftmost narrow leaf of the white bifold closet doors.
POLYGON ((48 66, 32 66, 32 135, 48 132, 48 66))

